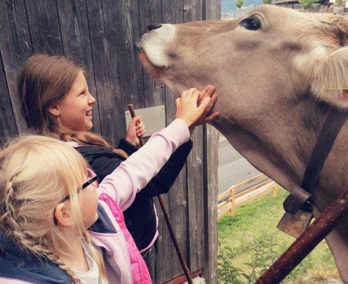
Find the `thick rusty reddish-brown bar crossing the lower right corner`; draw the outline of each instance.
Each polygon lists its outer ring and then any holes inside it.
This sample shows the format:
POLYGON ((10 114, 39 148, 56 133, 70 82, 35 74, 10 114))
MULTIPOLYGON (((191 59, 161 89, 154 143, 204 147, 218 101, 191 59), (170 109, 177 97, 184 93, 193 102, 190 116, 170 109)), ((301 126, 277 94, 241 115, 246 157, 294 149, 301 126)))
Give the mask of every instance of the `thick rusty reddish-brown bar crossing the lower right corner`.
POLYGON ((348 190, 332 202, 293 244, 265 271, 255 284, 280 283, 348 212, 348 190))

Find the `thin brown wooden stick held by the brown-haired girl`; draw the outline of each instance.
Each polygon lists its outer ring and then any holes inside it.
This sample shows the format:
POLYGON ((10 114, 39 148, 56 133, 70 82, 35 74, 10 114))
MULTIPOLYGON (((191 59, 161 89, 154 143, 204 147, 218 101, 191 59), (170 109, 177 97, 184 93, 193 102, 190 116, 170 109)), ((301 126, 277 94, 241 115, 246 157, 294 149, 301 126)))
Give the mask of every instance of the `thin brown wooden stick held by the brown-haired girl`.
MULTIPOLYGON (((134 111, 134 108, 133 108, 132 104, 128 105, 128 109, 129 109, 130 115, 132 115, 132 118, 135 117, 135 111, 134 111)), ((143 138, 139 137, 139 141, 140 141, 140 147, 142 147, 144 145, 143 138)), ((169 233, 170 233, 170 235, 172 237, 172 241, 174 243, 177 256, 179 257, 182 269, 184 270, 184 273, 186 275, 186 279, 187 279, 189 284, 193 284, 192 277, 191 277, 191 274, 190 274, 190 270, 187 267, 187 264, 185 262, 184 256, 183 256, 183 254, 181 252, 179 242, 177 241, 176 235, 175 235, 174 230, 173 230, 171 218, 169 217, 166 205, 164 204, 164 200, 163 200, 161 195, 158 195, 157 198, 158 198, 158 201, 159 201, 159 205, 161 206, 161 209, 162 209, 162 212, 163 212, 163 215, 164 215, 164 219, 166 220, 169 233)))

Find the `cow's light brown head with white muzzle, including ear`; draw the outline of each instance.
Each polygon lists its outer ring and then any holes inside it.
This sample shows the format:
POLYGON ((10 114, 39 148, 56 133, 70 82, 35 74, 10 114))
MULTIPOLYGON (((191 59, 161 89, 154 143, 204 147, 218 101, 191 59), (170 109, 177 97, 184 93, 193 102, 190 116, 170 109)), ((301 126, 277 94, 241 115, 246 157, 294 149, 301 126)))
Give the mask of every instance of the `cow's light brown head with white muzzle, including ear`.
POLYGON ((175 93, 209 82, 249 106, 310 88, 319 99, 348 106, 347 30, 342 17, 263 5, 235 20, 152 26, 140 59, 175 93))

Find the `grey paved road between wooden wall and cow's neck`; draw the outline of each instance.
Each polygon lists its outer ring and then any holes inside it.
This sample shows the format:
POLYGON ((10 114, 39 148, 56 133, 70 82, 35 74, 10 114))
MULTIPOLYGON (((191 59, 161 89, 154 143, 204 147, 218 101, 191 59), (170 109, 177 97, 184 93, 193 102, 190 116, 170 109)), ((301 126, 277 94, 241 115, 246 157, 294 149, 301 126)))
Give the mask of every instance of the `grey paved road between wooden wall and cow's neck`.
MULTIPOLYGON (((219 142, 219 194, 225 192, 231 185, 239 184, 260 174, 247 160, 245 160, 227 140, 219 142)), ((260 180, 256 183, 259 183, 260 180)), ((252 186, 254 184, 251 184, 252 186)), ((250 187, 248 186, 248 187, 250 187)), ((237 190, 243 191, 245 188, 237 190)))

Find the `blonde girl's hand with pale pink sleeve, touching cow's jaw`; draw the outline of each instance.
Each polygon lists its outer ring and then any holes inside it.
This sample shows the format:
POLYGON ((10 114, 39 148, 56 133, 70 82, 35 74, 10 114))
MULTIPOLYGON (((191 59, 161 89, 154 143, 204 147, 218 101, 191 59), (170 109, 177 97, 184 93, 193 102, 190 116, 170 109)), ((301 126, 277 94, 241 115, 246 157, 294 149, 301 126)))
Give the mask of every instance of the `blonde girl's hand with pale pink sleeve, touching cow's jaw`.
MULTIPOLYGON (((177 98, 176 103, 176 118, 182 119, 187 127, 191 127, 205 112, 209 105, 210 97, 205 96, 197 106, 198 96, 201 92, 196 88, 183 91, 180 98, 177 98)), ((203 98, 204 96, 202 96, 203 98)))

